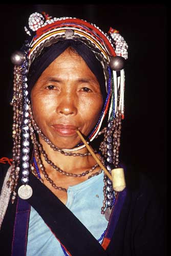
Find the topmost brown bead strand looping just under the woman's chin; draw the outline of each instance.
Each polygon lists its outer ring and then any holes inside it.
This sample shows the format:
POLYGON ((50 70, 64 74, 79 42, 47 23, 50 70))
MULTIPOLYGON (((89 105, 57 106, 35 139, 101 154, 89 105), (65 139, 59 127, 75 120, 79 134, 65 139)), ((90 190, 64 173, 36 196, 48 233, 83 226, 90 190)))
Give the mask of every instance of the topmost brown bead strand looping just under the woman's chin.
MULTIPOLYGON (((34 118, 33 118, 33 113, 31 110, 31 106, 29 106, 29 114, 30 114, 30 119, 32 122, 32 126, 34 131, 48 144, 50 145, 51 148, 53 148, 54 151, 60 152, 62 155, 65 156, 73 156, 73 157, 86 157, 86 156, 91 156, 90 152, 87 153, 72 153, 72 152, 66 152, 64 151, 62 148, 59 148, 57 146, 55 146, 40 130, 40 128, 38 127, 38 125, 36 124, 34 118)), ((95 151, 97 153, 97 151, 95 151)))

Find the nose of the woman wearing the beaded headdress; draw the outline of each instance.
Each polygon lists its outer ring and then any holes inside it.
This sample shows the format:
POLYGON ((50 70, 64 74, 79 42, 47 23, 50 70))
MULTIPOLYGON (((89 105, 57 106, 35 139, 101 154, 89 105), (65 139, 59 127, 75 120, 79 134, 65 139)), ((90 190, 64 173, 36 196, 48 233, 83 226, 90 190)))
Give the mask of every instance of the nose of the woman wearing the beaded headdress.
POLYGON ((77 107, 75 105, 75 100, 73 95, 65 95, 60 98, 60 102, 57 105, 56 112, 62 115, 76 115, 77 107))

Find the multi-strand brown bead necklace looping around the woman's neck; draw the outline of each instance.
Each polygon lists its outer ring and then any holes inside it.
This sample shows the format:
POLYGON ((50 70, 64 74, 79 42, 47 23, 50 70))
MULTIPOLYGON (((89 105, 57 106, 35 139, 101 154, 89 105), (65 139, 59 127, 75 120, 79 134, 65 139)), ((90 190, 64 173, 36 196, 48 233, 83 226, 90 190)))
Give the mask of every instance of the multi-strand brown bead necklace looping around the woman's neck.
MULTIPOLYGON (((51 186, 55 189, 58 189, 60 191, 64 191, 67 192, 66 188, 63 188, 61 186, 57 186, 55 184, 55 182, 49 177, 48 173, 46 172, 45 166, 42 163, 42 159, 41 157, 44 157, 45 161, 51 166, 53 167, 57 172, 59 172, 61 175, 65 175, 66 177, 73 177, 73 178, 79 178, 82 176, 88 176, 88 179, 99 175, 100 173, 102 173, 102 169, 98 170, 98 172, 94 173, 93 171, 95 170, 95 168, 97 168, 98 164, 95 164, 94 166, 92 166, 89 170, 86 170, 83 173, 79 173, 79 174, 74 174, 74 173, 68 173, 65 170, 62 170, 61 168, 59 168, 53 161, 51 161, 48 157, 48 155, 46 154, 44 148, 42 147, 42 145, 38 142, 37 137, 36 137, 36 133, 39 137, 41 137, 42 140, 44 140, 54 151, 57 151, 65 156, 73 156, 73 157, 86 157, 86 156, 90 156, 91 154, 89 152, 81 154, 81 153, 75 153, 75 152, 66 152, 66 150, 63 150, 62 148, 56 147, 44 134, 42 134, 41 130, 39 129, 38 125, 36 124, 34 118, 33 118, 33 114, 32 114, 32 110, 31 110, 31 106, 29 106, 29 114, 30 114, 30 123, 29 123, 29 128, 30 128, 30 137, 33 143, 33 147, 34 147, 34 161, 32 163, 31 169, 32 172, 34 173, 34 175, 41 181, 44 182, 44 180, 41 178, 40 173, 42 175, 44 175, 45 179, 51 184, 51 186), (92 173, 93 172, 93 173, 92 173), (92 174, 91 174, 92 173, 92 174)), ((113 126, 113 125, 112 125, 113 126)), ((115 127, 112 127, 112 129, 115 129, 115 127)), ((103 130, 101 132, 99 132, 98 135, 104 134, 104 138, 108 138, 107 133, 109 133, 109 131, 106 129, 106 127, 103 128, 103 130)), ((101 144, 101 147, 103 147, 103 145, 101 144)), ((104 146, 105 148, 105 146, 104 146)), ((104 150, 102 150, 103 152, 104 150)), ((97 153, 95 151, 95 153, 97 153)), ((105 155, 105 154, 104 154, 105 155)), ((103 157, 100 156, 100 161, 102 162, 102 164, 105 166, 105 162, 103 157)), ((107 166, 108 167, 108 166, 107 166)), ((114 191, 112 189, 112 184, 109 184, 109 182, 111 182, 108 177, 104 174, 103 177, 103 182, 104 182, 104 186, 103 186, 103 194, 104 194, 104 199, 103 199, 103 204, 101 207, 101 214, 104 215, 105 214, 105 208, 106 208, 106 202, 110 202, 110 205, 112 207, 113 201, 115 199, 115 196, 113 195, 114 191)), ((112 182, 111 182, 112 183, 112 182)), ((111 207, 110 211, 111 211, 111 207)), ((105 216, 106 217, 106 216, 105 216)), ((108 218, 106 218, 108 219, 108 218)))

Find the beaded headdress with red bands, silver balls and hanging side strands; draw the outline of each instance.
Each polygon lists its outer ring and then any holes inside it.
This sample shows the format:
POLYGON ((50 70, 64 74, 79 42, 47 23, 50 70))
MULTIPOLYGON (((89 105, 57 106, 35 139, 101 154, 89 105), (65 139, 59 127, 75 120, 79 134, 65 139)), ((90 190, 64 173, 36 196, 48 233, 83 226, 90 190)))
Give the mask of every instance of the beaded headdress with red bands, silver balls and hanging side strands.
MULTIPOLYGON (((14 52, 11 57, 15 65, 11 102, 14 110, 13 163, 8 181, 8 185, 13 191, 12 202, 16 196, 15 189, 20 166, 23 175, 22 183, 24 185, 29 183, 30 136, 33 136, 33 130, 42 135, 36 125, 31 125, 27 81, 32 62, 43 49, 61 40, 78 40, 89 47, 100 61, 104 71, 107 96, 100 118, 87 137, 87 141, 90 143, 98 135, 104 134, 104 140, 99 149, 109 172, 111 165, 118 166, 119 163, 121 119, 124 118, 124 63, 127 59, 127 44, 117 30, 110 28, 106 34, 86 20, 72 17, 53 18, 44 12, 35 12, 30 15, 25 31, 29 38, 21 50, 14 52), (108 120, 108 125, 102 130, 104 118, 108 120)), ((47 141, 51 145, 48 139, 47 141)), ((83 146, 80 143, 71 151, 78 150, 83 146)), ((110 186, 110 180, 106 182, 110 186)), ((108 190, 108 206, 111 206, 113 195, 112 190, 108 190)))

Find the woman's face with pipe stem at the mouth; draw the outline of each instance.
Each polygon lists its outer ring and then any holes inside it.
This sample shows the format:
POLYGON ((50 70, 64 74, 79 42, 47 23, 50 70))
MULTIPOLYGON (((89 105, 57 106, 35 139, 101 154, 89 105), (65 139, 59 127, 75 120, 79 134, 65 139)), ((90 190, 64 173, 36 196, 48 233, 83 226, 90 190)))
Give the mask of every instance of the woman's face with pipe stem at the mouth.
POLYGON ((96 76, 71 50, 59 55, 41 74, 31 100, 37 125, 60 148, 80 142, 77 129, 86 136, 91 132, 103 104, 96 76))

